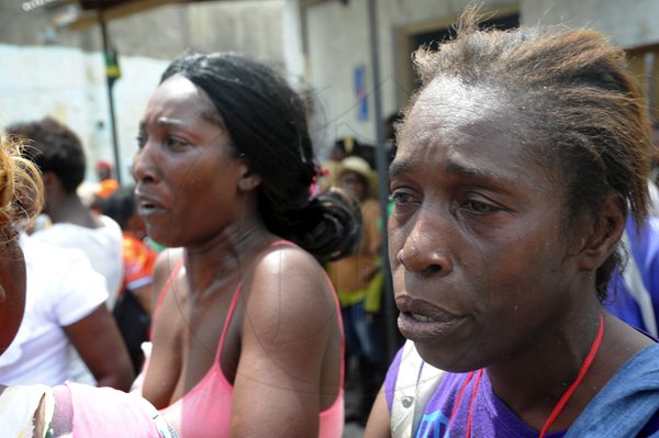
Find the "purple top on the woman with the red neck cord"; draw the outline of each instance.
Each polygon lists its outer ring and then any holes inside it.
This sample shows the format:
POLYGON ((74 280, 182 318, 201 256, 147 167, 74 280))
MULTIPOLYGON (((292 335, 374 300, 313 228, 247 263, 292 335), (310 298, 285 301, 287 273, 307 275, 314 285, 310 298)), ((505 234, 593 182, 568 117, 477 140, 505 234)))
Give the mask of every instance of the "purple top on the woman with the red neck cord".
MULTIPOLYGON (((395 356, 384 381, 384 391, 389 412, 393 403, 393 392, 398 379, 399 367, 401 364, 402 349, 395 356)), ((467 384, 462 398, 459 403, 454 419, 449 418, 456 405, 456 400, 469 373, 446 373, 437 386, 437 390, 429 398, 423 418, 416 430, 415 437, 465 437, 467 431, 467 419, 469 406, 471 403, 476 375, 467 384)), ((496 437, 496 438, 537 438, 538 430, 535 430, 522 420, 506 404, 494 393, 488 373, 483 372, 480 379, 478 391, 473 400, 471 414, 471 436, 472 437, 496 437)), ((639 437, 649 436, 651 431, 659 430, 659 417, 655 415, 648 427, 638 435, 639 437)), ((566 431, 547 434, 547 438, 561 438, 566 431)))

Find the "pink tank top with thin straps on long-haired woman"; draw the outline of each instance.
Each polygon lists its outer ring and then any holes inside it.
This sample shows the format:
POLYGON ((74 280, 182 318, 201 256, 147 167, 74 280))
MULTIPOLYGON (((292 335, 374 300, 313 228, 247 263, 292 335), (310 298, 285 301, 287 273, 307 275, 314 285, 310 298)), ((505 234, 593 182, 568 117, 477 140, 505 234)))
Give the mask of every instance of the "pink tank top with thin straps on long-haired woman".
MULTIPOLYGON (((280 240, 272 245, 294 245, 292 243, 280 240)), ((182 260, 172 270, 165 289, 160 294, 160 300, 169 289, 169 285, 177 272, 182 268, 182 260)), ((332 283, 327 279, 330 287, 332 283)), ((224 338, 228 329, 228 325, 233 317, 238 296, 241 295, 241 285, 236 289, 224 327, 222 328, 222 335, 220 337, 220 344, 217 346, 217 352, 215 353, 215 362, 203 377, 203 379, 192 388, 187 394, 174 404, 161 409, 160 413, 167 423, 177 430, 182 438, 203 438, 203 437, 228 437, 231 426, 231 405, 233 386, 226 380, 222 373, 220 367, 222 359, 222 348, 224 346, 224 338)), ((343 322, 340 318, 340 307, 338 306, 338 300, 334 294, 336 303, 336 314, 338 316, 340 333, 342 333, 342 370, 340 370, 340 386, 336 401, 332 406, 320 413, 320 438, 340 438, 343 435, 344 427, 344 340, 343 340, 343 322)), ((148 367, 148 363, 147 363, 148 367)), ((145 368, 146 369, 146 368, 145 368)))

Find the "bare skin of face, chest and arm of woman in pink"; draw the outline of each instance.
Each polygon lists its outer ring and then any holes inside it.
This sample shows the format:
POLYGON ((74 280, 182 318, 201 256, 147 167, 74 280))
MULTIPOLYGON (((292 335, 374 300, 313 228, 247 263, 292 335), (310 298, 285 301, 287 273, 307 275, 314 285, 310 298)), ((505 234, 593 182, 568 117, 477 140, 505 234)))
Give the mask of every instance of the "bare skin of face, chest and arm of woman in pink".
POLYGON ((163 291, 142 392, 164 408, 217 366, 242 284, 220 363, 233 385, 231 434, 314 436, 339 388, 333 294, 309 254, 271 246, 279 238, 258 214, 260 177, 236 156, 213 112, 202 90, 175 76, 156 90, 141 124, 133 167, 141 215, 154 240, 183 248, 159 257, 154 293, 181 258, 186 266, 163 291))

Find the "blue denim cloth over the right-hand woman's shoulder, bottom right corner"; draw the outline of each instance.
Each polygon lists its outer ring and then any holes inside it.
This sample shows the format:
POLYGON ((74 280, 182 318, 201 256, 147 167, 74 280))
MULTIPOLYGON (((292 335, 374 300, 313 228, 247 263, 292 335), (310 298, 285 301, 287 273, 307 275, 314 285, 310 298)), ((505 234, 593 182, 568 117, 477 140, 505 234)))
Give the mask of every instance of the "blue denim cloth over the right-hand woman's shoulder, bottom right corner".
MULTIPOLYGON (((632 357, 572 424, 566 438, 635 437, 659 412, 659 344, 632 357)), ((658 437, 659 431, 651 435, 658 437)))

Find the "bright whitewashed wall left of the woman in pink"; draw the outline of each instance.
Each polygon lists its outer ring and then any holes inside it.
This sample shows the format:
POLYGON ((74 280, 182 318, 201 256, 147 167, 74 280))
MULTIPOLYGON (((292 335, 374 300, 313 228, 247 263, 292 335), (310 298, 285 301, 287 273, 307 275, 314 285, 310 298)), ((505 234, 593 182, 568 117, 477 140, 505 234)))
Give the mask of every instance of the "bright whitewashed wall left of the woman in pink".
MULTIPOLYGON (((0 77, 0 127, 53 116, 82 141, 88 157, 88 179, 93 162, 114 161, 103 58, 100 53, 57 46, 0 44, 4 61, 0 77)), ((122 77, 114 85, 122 178, 136 151, 135 136, 148 96, 167 63, 144 57, 122 57, 122 77)))

